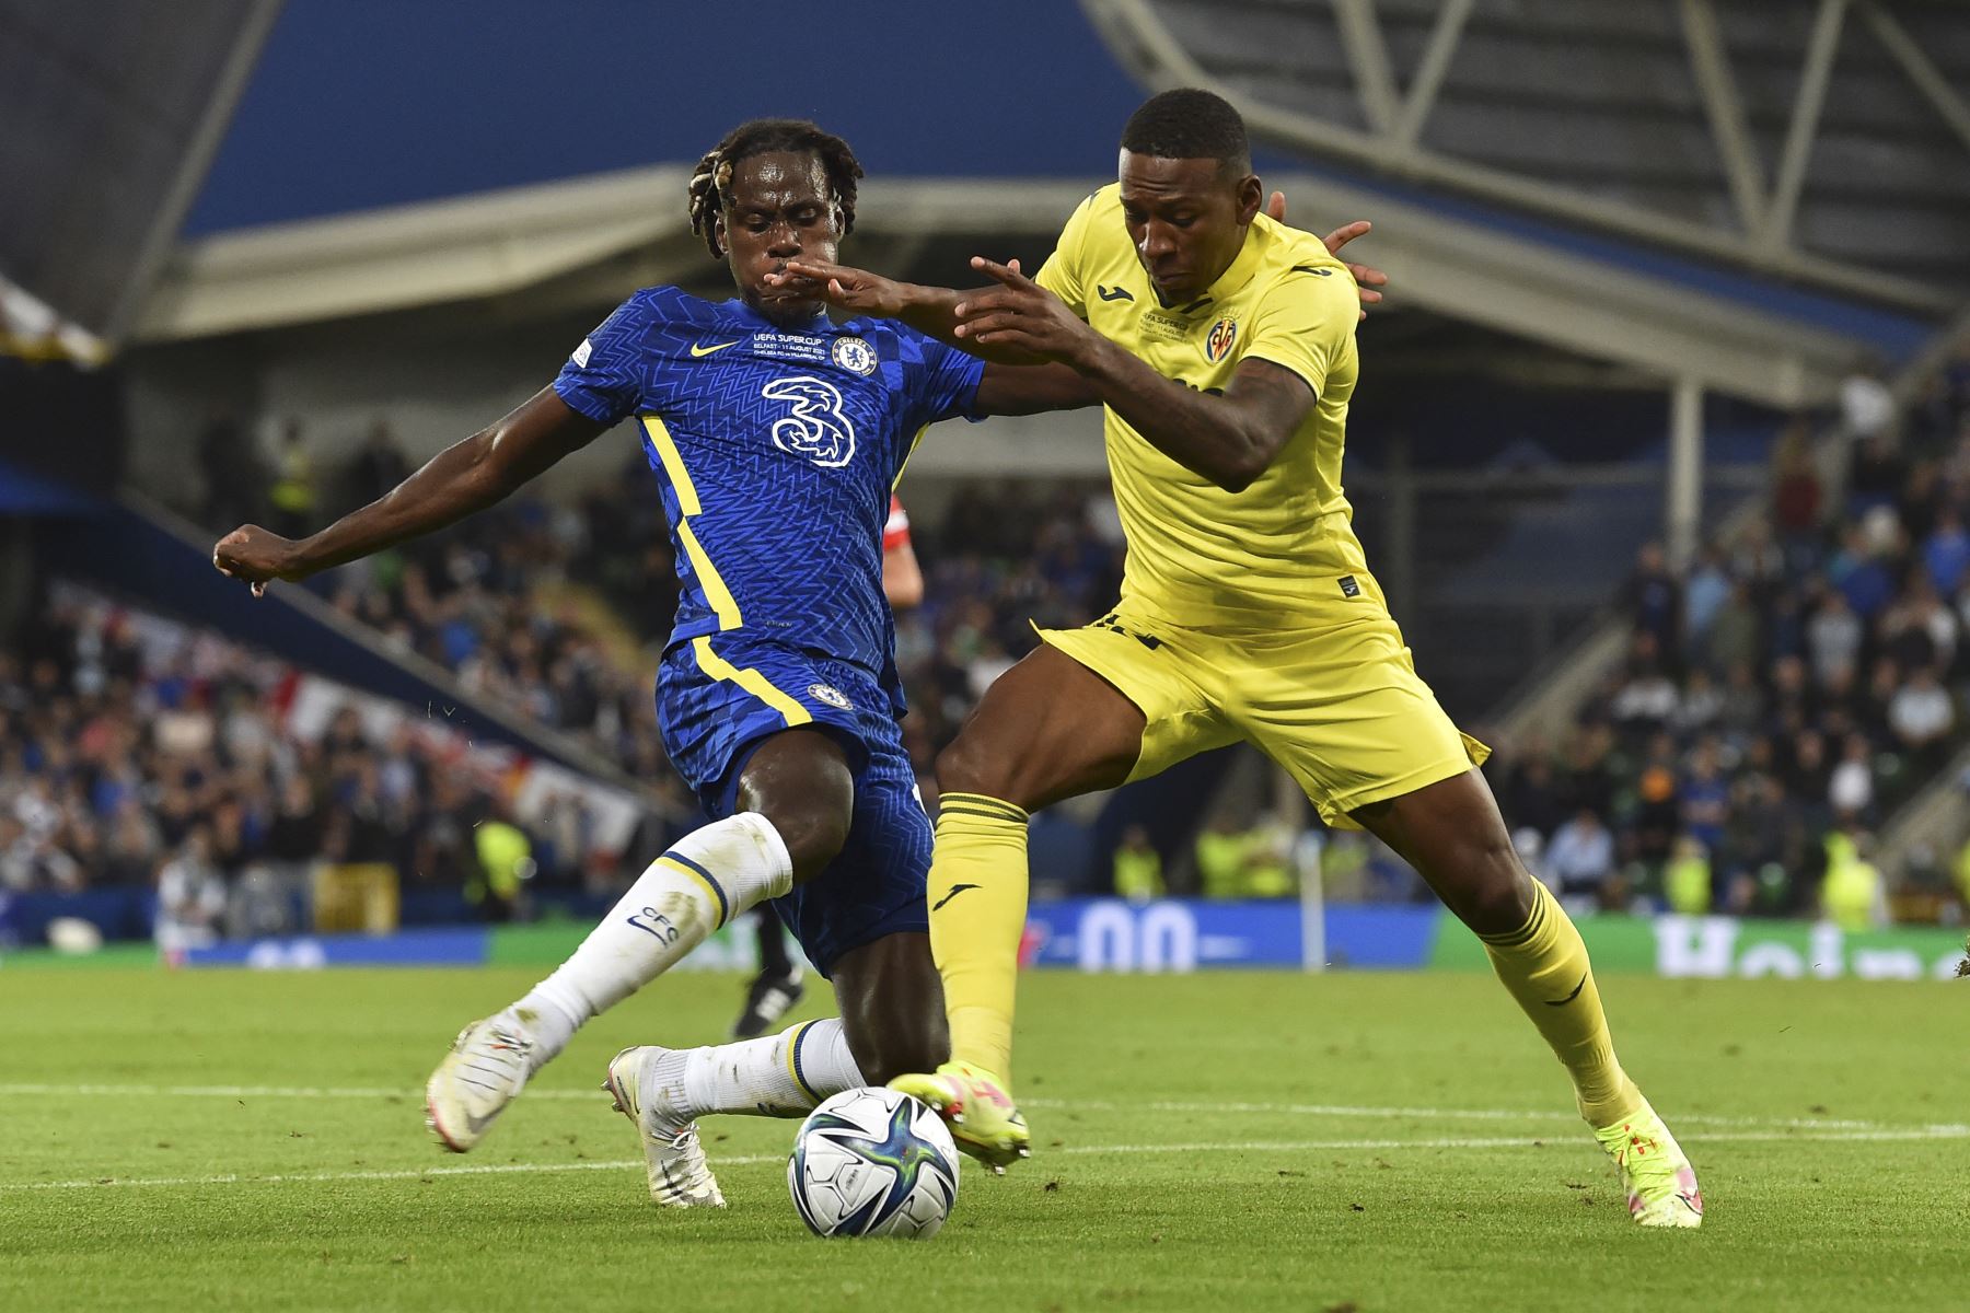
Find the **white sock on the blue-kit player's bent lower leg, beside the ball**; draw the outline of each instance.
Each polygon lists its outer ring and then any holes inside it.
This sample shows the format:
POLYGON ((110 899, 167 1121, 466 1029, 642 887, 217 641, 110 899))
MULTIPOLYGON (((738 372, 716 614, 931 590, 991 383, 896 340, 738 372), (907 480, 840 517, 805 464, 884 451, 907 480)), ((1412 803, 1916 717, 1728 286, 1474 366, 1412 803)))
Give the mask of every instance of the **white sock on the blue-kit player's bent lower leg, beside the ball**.
POLYGON ((833 1016, 760 1039, 678 1049, 652 1077, 686 1120, 717 1112, 806 1116, 829 1094, 867 1085, 833 1016))

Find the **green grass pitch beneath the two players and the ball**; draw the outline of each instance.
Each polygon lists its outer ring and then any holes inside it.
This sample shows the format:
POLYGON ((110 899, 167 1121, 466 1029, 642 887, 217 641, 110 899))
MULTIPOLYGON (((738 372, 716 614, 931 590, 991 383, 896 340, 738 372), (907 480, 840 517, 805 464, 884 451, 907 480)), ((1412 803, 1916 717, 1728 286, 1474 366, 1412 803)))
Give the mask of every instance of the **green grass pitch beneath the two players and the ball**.
MULTIPOLYGON (((816 1240, 792 1124, 707 1122, 731 1207, 648 1205, 597 1085, 713 1041, 731 976, 583 1032, 469 1157, 418 1091, 530 970, 0 970, 0 1309, 1917 1309, 1970 1299, 1960 986, 1609 976, 1696 1159, 1627 1222, 1476 974, 1030 974, 1036 1156, 928 1244, 816 1240)), ((821 990, 825 994, 825 990, 821 990)), ((820 1014, 825 1000, 806 1008, 820 1014)))

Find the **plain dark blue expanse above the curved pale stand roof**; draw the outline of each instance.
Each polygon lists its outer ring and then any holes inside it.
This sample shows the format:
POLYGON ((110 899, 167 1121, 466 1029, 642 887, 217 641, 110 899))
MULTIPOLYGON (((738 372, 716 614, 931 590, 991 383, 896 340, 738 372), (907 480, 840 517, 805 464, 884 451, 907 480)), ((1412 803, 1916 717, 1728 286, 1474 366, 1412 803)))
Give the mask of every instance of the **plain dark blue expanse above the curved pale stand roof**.
POLYGON ((185 232, 690 161, 760 114, 875 177, 1087 177, 1141 98, 1070 0, 288 0, 185 232))

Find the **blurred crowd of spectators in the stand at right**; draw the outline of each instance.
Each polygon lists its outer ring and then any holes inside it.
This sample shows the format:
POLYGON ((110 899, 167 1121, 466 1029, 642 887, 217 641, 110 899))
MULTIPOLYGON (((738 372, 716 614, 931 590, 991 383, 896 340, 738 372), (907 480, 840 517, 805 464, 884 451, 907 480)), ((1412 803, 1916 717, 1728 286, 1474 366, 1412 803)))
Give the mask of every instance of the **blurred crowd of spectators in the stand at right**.
POLYGON ((1899 419, 1866 374, 1842 409, 1834 486, 1793 425, 1763 514, 1686 569, 1647 545, 1625 661, 1558 742, 1493 768, 1521 848, 1574 902, 1950 915, 1940 862, 1891 890, 1870 848, 1964 740, 1970 358, 1899 419))

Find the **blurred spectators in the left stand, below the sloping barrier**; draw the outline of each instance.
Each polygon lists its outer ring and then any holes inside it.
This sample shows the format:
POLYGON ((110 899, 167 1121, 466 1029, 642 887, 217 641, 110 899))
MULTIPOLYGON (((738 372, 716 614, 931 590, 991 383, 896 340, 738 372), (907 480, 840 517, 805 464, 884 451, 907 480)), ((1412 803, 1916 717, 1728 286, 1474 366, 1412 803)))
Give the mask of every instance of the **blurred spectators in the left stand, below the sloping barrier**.
MULTIPOLYGON (((191 939, 290 925, 317 862, 384 862, 410 890, 487 894, 477 831, 498 782, 441 738, 319 734, 280 703, 296 671, 209 630, 53 587, 0 652, 0 894, 158 886, 191 939)), ((607 860, 556 799, 532 860, 579 884, 607 860)))

